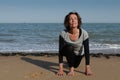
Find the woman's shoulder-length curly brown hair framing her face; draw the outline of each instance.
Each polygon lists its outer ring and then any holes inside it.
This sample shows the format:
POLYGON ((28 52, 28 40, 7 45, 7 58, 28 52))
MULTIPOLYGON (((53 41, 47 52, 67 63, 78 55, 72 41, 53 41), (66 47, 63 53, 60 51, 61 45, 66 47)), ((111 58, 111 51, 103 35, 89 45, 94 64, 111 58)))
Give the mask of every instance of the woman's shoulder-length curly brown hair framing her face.
POLYGON ((69 17, 71 14, 75 14, 77 16, 77 19, 78 19, 78 27, 77 28, 79 29, 82 24, 80 15, 77 12, 70 12, 65 16, 65 19, 64 19, 64 26, 65 26, 66 30, 70 30, 69 17))

